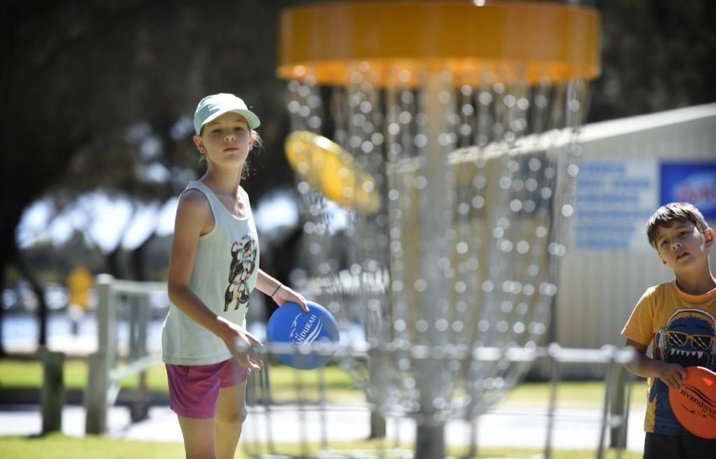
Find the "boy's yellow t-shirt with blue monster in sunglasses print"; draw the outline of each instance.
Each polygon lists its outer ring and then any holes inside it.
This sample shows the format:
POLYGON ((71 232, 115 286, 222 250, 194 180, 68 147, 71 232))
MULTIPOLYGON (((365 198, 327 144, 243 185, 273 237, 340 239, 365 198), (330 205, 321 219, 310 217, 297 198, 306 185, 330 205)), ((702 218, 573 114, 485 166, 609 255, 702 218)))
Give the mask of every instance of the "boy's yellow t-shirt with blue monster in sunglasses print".
MULTIPOLYGON (((716 369, 716 289, 702 295, 679 290, 676 281, 649 287, 621 334, 652 345, 654 359, 716 369)), ((669 406, 669 388, 648 380, 644 430, 662 435, 687 433, 669 406)))

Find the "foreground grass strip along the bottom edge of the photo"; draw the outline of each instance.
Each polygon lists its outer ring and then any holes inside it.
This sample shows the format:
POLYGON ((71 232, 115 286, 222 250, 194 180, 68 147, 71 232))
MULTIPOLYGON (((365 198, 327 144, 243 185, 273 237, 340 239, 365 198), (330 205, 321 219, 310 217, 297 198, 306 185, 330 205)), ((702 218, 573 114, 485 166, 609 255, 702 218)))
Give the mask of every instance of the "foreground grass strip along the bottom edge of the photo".
MULTIPOLYGON (((394 445, 387 445, 393 448, 394 445)), ((369 453, 371 450, 381 448, 377 441, 362 442, 336 442, 331 445, 332 450, 337 452, 361 451, 369 453)), ((309 445, 309 450, 314 450, 315 445, 309 445), (312 447, 312 448, 311 448, 312 447)), ((403 445, 405 450, 412 450, 410 445, 403 445)), ((237 459, 248 459, 251 456, 241 451, 236 455, 237 459)), ((281 445, 280 453, 299 455, 300 445, 281 445)), ((464 450, 449 448, 449 454, 463 454, 464 450)), ((541 450, 522 450, 514 448, 484 448, 478 451, 478 458, 537 458, 541 450)), ((0 457, 13 459, 175 459, 184 456, 184 448, 181 443, 162 443, 148 441, 118 440, 107 437, 74 438, 66 435, 46 435, 44 437, 0 437, 0 457)), ((624 459, 641 458, 641 453, 626 452, 621 457, 624 459)), ((381 456, 385 459, 400 458, 400 455, 381 456)), ((594 451, 591 450, 555 450, 553 459, 587 459, 594 458, 594 451)), ((607 459, 614 459, 617 455, 609 451, 607 459)))

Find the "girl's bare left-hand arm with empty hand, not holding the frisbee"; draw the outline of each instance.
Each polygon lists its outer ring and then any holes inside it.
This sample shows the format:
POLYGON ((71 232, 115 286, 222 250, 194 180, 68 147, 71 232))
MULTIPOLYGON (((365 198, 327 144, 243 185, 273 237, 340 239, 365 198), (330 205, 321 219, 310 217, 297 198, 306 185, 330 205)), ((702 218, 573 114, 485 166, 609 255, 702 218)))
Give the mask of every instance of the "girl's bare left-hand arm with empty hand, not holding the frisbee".
POLYGON ((199 237, 213 227, 211 207, 203 193, 189 190, 181 196, 174 223, 174 239, 169 259, 169 299, 184 314, 205 327, 226 343, 240 364, 251 369, 260 369, 261 360, 255 355, 234 352, 234 342, 241 339, 247 344, 261 342, 231 321, 215 314, 189 288, 199 237))

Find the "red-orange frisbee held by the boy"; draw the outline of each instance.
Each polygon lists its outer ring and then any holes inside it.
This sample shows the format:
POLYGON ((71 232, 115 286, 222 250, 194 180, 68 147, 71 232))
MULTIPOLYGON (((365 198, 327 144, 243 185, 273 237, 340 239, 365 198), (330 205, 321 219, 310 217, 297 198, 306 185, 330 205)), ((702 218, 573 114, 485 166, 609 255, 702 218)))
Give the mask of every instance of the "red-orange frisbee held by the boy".
POLYGON ((716 373, 687 367, 682 390, 669 389, 669 405, 684 429, 701 438, 716 438, 716 373))

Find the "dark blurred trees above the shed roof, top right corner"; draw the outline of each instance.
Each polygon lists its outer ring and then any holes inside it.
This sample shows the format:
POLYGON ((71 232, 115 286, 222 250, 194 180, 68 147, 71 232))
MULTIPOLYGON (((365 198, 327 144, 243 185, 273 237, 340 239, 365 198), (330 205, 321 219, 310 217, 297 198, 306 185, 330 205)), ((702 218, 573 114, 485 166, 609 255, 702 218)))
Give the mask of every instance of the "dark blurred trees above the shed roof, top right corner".
POLYGON ((599 0, 602 73, 587 122, 716 102, 716 2, 599 0))

